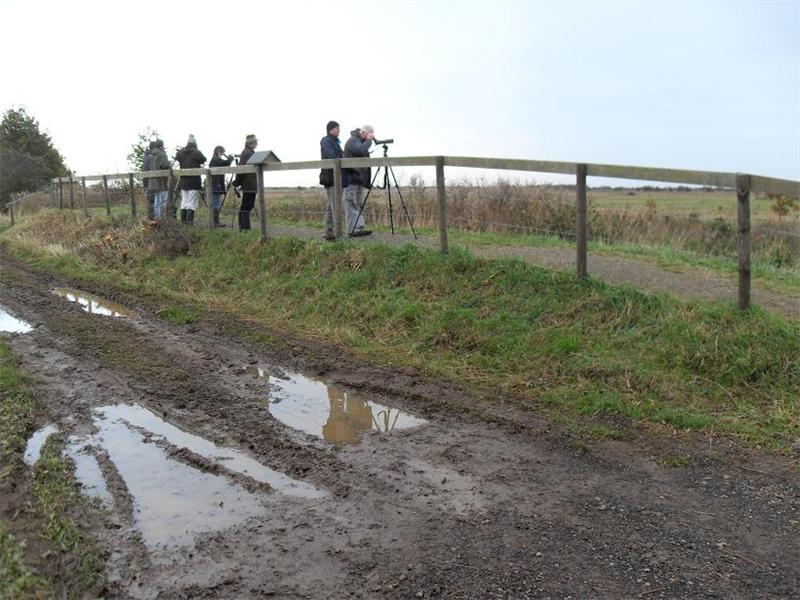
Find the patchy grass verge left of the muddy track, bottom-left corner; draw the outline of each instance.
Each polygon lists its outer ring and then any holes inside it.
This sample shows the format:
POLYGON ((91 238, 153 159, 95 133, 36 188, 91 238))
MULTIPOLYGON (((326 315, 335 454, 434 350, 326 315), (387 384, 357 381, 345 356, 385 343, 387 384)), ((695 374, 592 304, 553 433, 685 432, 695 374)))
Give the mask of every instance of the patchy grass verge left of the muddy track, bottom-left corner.
POLYGON ((80 502, 74 465, 57 434, 32 470, 22 462, 42 407, 2 341, 0 394, 0 493, 16 504, 0 520, 0 598, 83 598, 96 592, 102 561, 71 516, 80 502))

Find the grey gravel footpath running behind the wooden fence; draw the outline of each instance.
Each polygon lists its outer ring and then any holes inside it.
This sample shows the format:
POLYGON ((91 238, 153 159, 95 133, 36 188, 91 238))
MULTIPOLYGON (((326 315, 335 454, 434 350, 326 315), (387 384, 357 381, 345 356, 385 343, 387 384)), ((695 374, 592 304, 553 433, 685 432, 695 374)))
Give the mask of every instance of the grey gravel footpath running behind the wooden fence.
MULTIPOLYGON (((318 238, 320 232, 307 227, 272 226, 270 235, 318 238)), ((376 233, 358 238, 359 242, 376 241, 391 244, 418 243, 423 246, 438 247, 436 238, 420 236, 414 240, 411 235, 376 233)), ((535 246, 487 246, 471 247, 478 256, 486 258, 519 258, 533 265, 551 269, 575 269, 575 250, 572 248, 535 246)), ((589 253, 589 273, 609 283, 629 284, 649 292, 668 292, 688 300, 730 300, 736 301, 737 282, 723 275, 693 269, 670 269, 619 256, 589 253)), ((783 315, 790 319, 800 319, 800 296, 789 293, 780 294, 761 289, 754 284, 753 302, 761 308, 783 315)))

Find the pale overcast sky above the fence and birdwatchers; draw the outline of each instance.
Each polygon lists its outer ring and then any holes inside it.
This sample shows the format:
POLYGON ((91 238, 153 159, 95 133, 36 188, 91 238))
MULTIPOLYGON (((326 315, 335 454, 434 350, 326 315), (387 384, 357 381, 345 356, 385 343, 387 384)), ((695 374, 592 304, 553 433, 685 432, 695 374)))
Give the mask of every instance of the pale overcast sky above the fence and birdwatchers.
POLYGON ((800 2, 0 0, 18 106, 79 174, 126 169, 147 127, 315 159, 335 119, 396 156, 800 179, 800 2))

